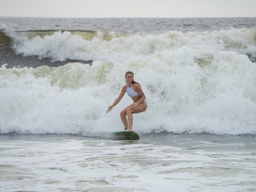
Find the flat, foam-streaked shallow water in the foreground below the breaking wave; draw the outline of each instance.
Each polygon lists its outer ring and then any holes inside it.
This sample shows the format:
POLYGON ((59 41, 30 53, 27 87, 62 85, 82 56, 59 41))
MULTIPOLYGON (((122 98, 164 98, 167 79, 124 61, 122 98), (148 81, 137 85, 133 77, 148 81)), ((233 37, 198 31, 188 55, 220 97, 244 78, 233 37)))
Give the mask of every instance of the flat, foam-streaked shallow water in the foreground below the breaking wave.
POLYGON ((254 136, 1 138, 1 191, 255 191, 254 136))

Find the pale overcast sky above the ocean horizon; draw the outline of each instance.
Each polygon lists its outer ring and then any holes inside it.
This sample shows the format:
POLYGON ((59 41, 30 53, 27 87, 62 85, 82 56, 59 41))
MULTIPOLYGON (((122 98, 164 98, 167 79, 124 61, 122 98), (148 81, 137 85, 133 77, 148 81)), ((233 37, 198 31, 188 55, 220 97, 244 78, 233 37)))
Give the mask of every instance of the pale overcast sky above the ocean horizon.
POLYGON ((256 0, 0 0, 0 16, 58 18, 256 17, 256 0))

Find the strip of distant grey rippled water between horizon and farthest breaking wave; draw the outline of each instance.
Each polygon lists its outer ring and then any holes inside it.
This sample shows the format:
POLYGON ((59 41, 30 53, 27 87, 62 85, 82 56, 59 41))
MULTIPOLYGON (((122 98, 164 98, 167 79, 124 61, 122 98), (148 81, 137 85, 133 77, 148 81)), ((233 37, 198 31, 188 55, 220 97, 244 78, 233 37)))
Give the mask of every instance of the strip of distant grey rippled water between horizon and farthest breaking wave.
POLYGON ((0 28, 11 30, 103 30, 160 34, 255 28, 256 18, 0 18, 0 28))

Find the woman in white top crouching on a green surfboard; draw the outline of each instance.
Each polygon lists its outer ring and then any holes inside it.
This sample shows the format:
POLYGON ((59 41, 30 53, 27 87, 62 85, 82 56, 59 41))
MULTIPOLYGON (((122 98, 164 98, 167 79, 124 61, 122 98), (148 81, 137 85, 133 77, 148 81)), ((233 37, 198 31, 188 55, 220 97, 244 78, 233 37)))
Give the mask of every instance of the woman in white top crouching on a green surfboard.
POLYGON ((124 124, 124 130, 132 130, 133 116, 132 114, 138 114, 144 112, 147 109, 146 96, 143 93, 140 84, 133 81, 133 72, 128 71, 125 73, 126 85, 123 86, 119 97, 114 101, 114 103, 109 106, 107 112, 111 111, 113 107, 118 104, 124 97, 125 92, 132 98, 133 104, 126 107, 120 112, 121 120, 124 124), (128 121, 127 121, 127 117, 128 121))

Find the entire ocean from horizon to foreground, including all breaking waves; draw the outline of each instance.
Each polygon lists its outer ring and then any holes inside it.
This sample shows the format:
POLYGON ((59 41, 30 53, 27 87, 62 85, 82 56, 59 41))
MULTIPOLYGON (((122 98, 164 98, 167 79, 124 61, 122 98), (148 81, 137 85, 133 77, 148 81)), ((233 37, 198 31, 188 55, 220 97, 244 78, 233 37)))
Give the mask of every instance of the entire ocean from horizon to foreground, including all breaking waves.
POLYGON ((0 189, 256 191, 255 21, 0 18, 0 189))

